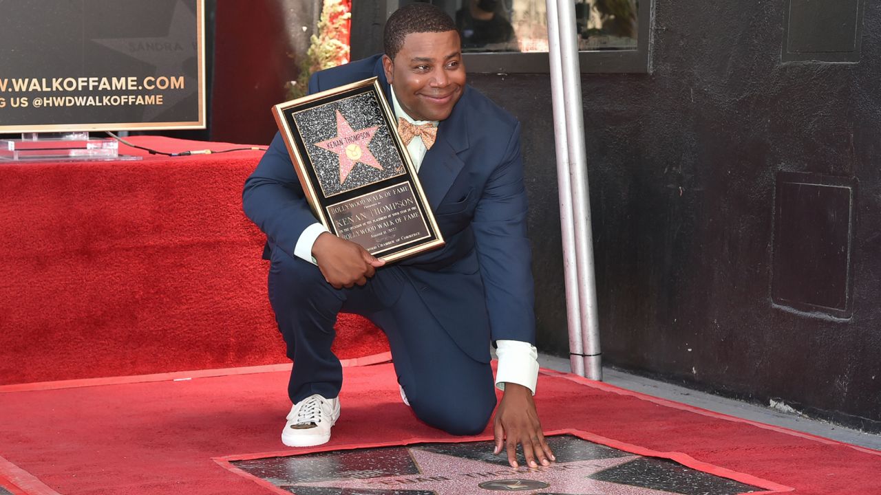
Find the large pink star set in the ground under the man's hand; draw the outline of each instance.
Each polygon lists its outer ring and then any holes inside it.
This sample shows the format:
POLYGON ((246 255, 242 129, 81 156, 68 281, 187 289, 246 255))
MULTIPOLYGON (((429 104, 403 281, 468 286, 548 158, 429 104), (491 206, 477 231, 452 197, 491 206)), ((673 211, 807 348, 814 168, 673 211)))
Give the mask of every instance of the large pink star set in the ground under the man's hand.
POLYGON ((447 454, 436 454, 419 448, 408 448, 413 461, 419 469, 418 475, 396 475, 366 479, 345 478, 330 481, 298 483, 297 487, 337 488, 359 491, 433 491, 435 495, 478 495, 487 494, 486 482, 498 480, 498 487, 504 491, 528 491, 529 493, 568 493, 603 495, 674 495, 673 491, 653 490, 630 484, 617 484, 592 479, 605 469, 638 459, 638 455, 593 459, 574 462, 555 462, 549 467, 530 469, 503 467, 491 462, 472 461, 447 454), (519 482, 519 483, 518 483, 519 482), (524 482, 544 482, 532 484, 524 482), (543 486, 548 484, 549 486, 543 486), (520 486, 523 485, 523 486, 520 486), (536 488, 532 488, 536 486, 536 488), (507 489, 503 487, 508 487, 507 489))

